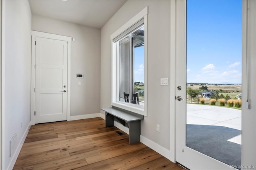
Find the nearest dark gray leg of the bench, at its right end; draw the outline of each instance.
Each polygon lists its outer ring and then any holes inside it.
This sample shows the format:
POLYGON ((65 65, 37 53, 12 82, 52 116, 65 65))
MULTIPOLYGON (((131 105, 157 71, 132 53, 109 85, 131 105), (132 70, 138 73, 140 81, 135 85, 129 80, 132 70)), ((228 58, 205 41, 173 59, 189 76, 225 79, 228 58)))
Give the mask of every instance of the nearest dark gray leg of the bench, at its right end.
POLYGON ((140 142, 140 120, 128 122, 129 126, 129 144, 140 142))

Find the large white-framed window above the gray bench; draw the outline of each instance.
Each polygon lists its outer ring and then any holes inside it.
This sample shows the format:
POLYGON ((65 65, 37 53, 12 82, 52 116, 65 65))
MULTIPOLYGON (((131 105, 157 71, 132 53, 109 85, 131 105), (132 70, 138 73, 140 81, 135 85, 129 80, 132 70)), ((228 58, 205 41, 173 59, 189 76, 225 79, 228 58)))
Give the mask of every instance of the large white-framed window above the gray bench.
POLYGON ((130 20, 111 38, 112 105, 142 115, 146 115, 146 14, 130 20))

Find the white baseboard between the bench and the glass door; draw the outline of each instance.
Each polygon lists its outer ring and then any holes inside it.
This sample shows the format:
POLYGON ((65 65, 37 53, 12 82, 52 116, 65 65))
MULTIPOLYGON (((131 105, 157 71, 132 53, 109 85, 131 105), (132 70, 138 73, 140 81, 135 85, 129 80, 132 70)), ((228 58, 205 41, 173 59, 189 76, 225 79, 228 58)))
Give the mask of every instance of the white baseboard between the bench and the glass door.
POLYGON ((170 150, 164 148, 163 146, 160 146, 159 144, 153 142, 152 140, 145 138, 144 136, 140 135, 140 142, 148 146, 149 148, 153 149, 154 151, 158 152, 162 156, 166 157, 168 160, 174 162, 172 160, 172 153, 170 150))

